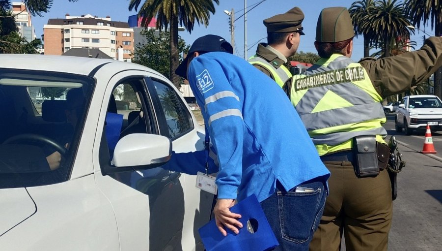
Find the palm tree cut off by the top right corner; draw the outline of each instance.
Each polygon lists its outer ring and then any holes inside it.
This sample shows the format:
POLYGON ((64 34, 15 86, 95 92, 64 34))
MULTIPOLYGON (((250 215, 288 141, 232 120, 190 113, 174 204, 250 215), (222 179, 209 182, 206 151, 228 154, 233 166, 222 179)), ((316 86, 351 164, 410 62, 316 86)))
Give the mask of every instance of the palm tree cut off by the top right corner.
MULTIPOLYGON (((435 28, 435 35, 442 35, 442 2, 441 0, 407 0, 405 3, 412 24, 420 28, 420 22, 426 26, 431 21, 431 29, 435 28)), ((434 74, 434 94, 441 97, 442 68, 434 74)))

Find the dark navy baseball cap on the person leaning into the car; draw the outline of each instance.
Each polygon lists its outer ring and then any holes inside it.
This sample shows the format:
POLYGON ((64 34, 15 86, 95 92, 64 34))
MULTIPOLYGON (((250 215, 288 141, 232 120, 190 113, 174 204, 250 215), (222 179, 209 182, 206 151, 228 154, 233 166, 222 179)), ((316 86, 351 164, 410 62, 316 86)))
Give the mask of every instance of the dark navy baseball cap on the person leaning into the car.
POLYGON ((187 79, 187 62, 189 61, 189 55, 192 55, 195 51, 197 52, 227 52, 233 54, 232 45, 227 42, 224 38, 217 35, 205 35, 198 37, 192 44, 189 53, 183 62, 180 63, 178 68, 175 70, 175 74, 187 79))

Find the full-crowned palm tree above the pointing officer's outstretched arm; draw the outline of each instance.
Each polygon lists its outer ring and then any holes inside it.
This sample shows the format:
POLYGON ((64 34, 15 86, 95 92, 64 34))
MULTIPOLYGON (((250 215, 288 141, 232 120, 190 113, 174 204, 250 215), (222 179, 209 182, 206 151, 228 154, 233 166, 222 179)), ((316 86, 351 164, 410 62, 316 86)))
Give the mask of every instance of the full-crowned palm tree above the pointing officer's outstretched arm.
POLYGON ((377 42, 384 56, 389 57, 391 46, 394 43, 405 42, 410 38, 410 30, 404 3, 398 0, 379 0, 368 12, 362 24, 363 30, 371 30, 375 34, 377 42))

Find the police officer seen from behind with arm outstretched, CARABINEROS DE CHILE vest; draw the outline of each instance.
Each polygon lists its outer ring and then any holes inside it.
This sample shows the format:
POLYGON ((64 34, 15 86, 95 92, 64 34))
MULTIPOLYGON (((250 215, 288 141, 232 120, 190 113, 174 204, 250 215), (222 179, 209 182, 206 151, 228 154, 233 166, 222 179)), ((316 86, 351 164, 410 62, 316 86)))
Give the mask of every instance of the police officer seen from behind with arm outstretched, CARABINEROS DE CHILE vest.
POLYGON ((292 104, 324 164, 330 195, 310 250, 387 250, 392 195, 386 122, 380 102, 409 90, 442 66, 442 38, 420 50, 353 62, 354 31, 345 7, 325 8, 316 28, 321 59, 288 85, 292 104))

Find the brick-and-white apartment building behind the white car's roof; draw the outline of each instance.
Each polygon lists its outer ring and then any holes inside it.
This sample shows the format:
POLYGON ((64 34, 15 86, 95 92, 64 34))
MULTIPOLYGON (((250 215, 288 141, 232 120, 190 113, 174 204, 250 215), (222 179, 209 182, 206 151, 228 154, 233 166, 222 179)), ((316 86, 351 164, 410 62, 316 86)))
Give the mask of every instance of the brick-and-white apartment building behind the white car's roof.
POLYGON ((99 49, 119 61, 132 61, 134 30, 128 23, 90 14, 49 19, 44 25, 46 55, 62 55, 71 48, 99 49))

